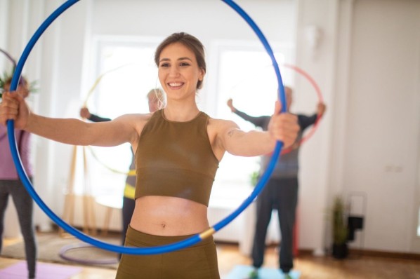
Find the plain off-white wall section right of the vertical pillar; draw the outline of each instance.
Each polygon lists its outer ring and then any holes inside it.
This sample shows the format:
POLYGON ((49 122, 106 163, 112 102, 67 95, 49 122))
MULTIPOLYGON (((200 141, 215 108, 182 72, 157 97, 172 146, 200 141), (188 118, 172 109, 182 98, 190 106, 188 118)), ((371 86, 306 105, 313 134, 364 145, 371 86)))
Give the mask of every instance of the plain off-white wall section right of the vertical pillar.
POLYGON ((353 13, 343 186, 367 194, 367 247, 413 252, 420 2, 355 1, 353 13))

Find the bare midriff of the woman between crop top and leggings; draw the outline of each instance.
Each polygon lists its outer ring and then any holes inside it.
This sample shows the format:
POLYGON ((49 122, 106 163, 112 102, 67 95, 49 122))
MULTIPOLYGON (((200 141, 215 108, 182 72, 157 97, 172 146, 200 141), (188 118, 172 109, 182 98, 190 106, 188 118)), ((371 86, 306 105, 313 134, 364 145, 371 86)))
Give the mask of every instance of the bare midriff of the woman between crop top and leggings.
POLYGON ((187 236, 209 229, 207 207, 185 198, 144 196, 136 199, 130 226, 155 236, 187 236))

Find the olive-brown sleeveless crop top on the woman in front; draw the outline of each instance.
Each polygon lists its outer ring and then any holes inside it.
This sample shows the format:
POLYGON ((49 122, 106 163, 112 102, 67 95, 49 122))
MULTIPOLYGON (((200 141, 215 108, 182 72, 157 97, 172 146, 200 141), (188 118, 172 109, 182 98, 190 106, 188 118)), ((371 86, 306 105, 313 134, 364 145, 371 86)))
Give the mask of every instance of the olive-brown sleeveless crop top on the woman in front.
POLYGON ((163 109, 145 124, 136 151, 136 196, 186 198, 209 206, 218 159, 200 111, 191 121, 169 121, 163 109))

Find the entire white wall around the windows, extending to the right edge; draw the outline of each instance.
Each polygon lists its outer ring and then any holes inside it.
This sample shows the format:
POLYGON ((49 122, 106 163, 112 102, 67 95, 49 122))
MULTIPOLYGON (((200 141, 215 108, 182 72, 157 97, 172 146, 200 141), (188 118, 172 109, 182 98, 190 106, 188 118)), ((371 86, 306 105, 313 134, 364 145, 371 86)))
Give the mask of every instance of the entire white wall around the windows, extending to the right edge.
MULTIPOLYGON (((28 27, 9 20, 18 34, 8 34, 5 39, 0 36, 0 47, 13 47, 13 54, 18 55, 18 48, 23 47, 41 18, 60 3, 0 1, 11 15, 20 15, 16 8, 19 5, 29 5, 26 11, 31 15, 25 23, 28 27)), ((414 252, 414 212, 419 200, 420 117, 416 108, 420 94, 420 2, 237 3, 249 12, 269 41, 296 43, 296 64, 320 84, 327 103, 319 130, 301 152, 300 247, 321 254, 329 246, 325 212, 332 196, 362 191, 367 194, 365 248, 414 252), (322 30, 316 50, 306 39, 306 29, 313 25, 322 30)), ((221 1, 80 1, 45 34, 37 50, 39 56, 32 61, 36 66, 28 62, 30 77, 41 82, 37 111, 48 116, 77 117, 79 93, 91 84, 86 81, 89 69, 84 51, 89 49, 93 35, 164 37, 180 30, 198 36, 207 46, 210 60, 213 40, 256 39, 221 1)), ((213 81, 212 76, 207 78, 207 84, 213 81)), ((306 90, 307 86, 298 83, 296 89, 306 90)), ((202 109, 212 111, 216 101, 211 87, 200 94, 208 100, 202 109)), ((41 139, 37 147, 35 186, 60 214, 60 194, 69 175, 71 148, 41 139)), ((42 214, 37 220, 48 223, 42 214)))

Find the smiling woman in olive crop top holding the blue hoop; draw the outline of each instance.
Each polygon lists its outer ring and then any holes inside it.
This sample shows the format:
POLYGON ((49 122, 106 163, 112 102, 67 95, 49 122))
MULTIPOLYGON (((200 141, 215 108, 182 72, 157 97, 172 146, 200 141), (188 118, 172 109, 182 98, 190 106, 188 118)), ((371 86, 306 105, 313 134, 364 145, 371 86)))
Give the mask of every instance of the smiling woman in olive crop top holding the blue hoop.
MULTIPOLYGON (((126 245, 173 243, 209 229, 207 207, 218 163, 228 151, 259 156, 280 140, 296 140, 296 116, 278 114, 268 131, 244 132, 232 121, 199 111, 196 93, 206 74, 202 43, 185 33, 171 34, 155 53, 166 107, 152 114, 126 114, 109 122, 48 118, 29 111, 22 97, 6 93, 0 123, 77 145, 110 147, 130 142, 136 151, 136 208, 126 245)), ((219 278, 216 245, 206 238, 184 250, 151 256, 122 256, 117 278, 219 278)))

